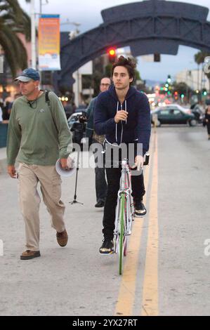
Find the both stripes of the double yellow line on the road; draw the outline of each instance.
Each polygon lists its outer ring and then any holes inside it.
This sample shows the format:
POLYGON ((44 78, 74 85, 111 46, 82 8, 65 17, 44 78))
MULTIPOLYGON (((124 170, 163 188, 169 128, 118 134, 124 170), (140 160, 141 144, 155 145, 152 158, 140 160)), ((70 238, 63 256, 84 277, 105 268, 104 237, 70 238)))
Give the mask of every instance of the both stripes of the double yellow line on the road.
MULTIPOLYGON (((158 315, 158 223, 157 223, 157 133, 152 135, 150 166, 145 170, 145 187, 152 183, 148 209, 147 252, 145 258, 142 303, 139 315, 158 315)), ((133 315, 136 301, 136 282, 143 224, 147 218, 136 218, 129 239, 128 256, 124 260, 124 272, 114 315, 133 315)), ((142 263, 143 265, 143 263, 142 263)))

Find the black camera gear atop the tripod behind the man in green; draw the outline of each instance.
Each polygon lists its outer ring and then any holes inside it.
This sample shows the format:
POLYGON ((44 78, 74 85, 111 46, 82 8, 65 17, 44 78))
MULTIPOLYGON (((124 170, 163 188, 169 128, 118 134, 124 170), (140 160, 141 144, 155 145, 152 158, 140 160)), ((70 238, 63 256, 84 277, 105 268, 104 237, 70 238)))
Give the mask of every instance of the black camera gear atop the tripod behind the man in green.
POLYGON ((82 149, 81 139, 85 137, 86 131, 86 109, 77 109, 67 120, 72 132, 72 142, 78 143, 82 149))

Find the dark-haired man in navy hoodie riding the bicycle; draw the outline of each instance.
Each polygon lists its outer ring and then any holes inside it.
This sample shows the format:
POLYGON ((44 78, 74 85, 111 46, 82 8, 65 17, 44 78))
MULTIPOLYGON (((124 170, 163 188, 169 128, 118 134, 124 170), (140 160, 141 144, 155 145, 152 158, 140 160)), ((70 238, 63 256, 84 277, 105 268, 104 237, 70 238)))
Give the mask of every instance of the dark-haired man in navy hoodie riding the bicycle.
MULTIPOLYGON (((143 167, 143 156, 149 150, 151 119, 150 104, 147 96, 131 86, 135 77, 136 64, 123 56, 112 66, 112 80, 114 85, 108 91, 98 95, 94 112, 95 130, 98 135, 105 134, 107 146, 122 143, 134 145, 134 161, 138 169, 143 167), (142 148, 139 152, 138 145, 142 148)), ((119 159, 120 160, 120 159, 119 159)), ((121 166, 106 167, 107 196, 103 215, 103 245, 100 253, 109 254, 113 251, 113 232, 117 192, 121 177, 121 166)), ((144 216, 143 205, 145 187, 143 173, 131 177, 135 216, 144 216)))

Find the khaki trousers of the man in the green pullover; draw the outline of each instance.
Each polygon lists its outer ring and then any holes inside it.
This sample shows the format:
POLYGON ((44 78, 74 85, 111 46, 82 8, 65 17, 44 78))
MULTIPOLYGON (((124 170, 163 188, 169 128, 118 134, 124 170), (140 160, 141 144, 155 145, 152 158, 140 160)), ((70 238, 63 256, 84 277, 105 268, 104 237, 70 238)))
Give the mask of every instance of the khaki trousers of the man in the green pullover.
POLYGON ((60 200, 61 179, 55 166, 27 165, 18 168, 19 202, 25 220, 27 250, 39 251, 39 204, 37 185, 41 185, 44 204, 51 215, 51 225, 57 232, 65 230, 65 205, 60 200))

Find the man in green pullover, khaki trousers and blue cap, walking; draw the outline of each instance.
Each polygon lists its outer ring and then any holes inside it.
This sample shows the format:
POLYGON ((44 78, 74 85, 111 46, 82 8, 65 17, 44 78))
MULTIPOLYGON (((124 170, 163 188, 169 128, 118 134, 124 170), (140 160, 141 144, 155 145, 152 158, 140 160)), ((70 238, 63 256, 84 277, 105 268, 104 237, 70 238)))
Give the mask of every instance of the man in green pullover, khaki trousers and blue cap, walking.
POLYGON ((8 174, 19 180, 19 201, 25 220, 26 251, 21 260, 40 256, 39 204, 37 184, 51 215, 51 225, 56 230, 60 246, 67 244, 68 235, 63 219, 65 205, 60 200, 61 180, 55 171, 60 158, 63 169, 71 152, 72 136, 67 125, 63 105, 55 93, 39 88, 39 72, 29 68, 18 78, 22 96, 15 100, 8 124, 7 161, 8 174), (15 171, 15 160, 19 162, 15 171))

